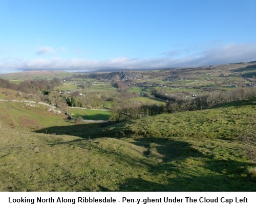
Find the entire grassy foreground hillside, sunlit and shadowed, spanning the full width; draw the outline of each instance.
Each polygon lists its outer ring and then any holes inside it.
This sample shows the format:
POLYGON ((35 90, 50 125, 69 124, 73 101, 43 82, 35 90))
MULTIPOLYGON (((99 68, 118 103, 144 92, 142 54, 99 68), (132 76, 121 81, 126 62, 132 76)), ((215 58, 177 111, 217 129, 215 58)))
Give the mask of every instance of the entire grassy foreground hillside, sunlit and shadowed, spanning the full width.
POLYGON ((255 164, 238 140, 255 134, 255 103, 110 126, 51 123, 43 133, 2 126, 0 190, 256 191, 255 164))

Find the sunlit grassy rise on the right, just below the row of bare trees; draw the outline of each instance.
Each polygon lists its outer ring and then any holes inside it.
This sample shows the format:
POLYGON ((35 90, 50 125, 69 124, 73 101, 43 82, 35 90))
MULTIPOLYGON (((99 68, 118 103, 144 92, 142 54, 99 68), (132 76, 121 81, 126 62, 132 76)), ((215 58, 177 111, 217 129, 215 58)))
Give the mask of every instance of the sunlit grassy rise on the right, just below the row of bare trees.
POLYGON ((221 104, 207 110, 129 120, 105 128, 102 135, 233 140, 244 133, 256 134, 255 111, 254 98, 221 104))

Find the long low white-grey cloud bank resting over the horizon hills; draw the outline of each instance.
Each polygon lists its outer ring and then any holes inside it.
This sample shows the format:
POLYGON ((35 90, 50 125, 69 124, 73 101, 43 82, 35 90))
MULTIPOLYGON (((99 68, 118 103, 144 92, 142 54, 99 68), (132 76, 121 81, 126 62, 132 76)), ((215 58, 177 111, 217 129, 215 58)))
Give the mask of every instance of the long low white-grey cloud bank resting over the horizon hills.
MULTIPOLYGON (((53 53, 50 47, 43 47, 37 51, 38 54, 53 53)), ((177 54, 181 52, 178 51, 177 54)), ((196 67, 204 65, 227 64, 256 60, 256 44, 228 44, 218 48, 211 48, 199 53, 184 57, 172 56, 165 53, 161 58, 129 59, 126 57, 113 58, 110 60, 85 60, 73 59, 32 59, 17 60, 5 59, 0 61, 0 72, 10 73, 12 70, 62 70, 62 71, 94 71, 101 68, 117 69, 154 69, 166 67, 196 67)))

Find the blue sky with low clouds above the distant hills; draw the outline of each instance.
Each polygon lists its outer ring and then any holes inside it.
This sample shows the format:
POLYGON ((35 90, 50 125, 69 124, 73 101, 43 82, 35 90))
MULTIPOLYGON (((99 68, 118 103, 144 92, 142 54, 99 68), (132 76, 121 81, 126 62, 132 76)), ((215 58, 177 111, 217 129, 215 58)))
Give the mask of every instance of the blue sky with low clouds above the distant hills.
POLYGON ((256 60, 254 0, 0 0, 0 72, 256 60))

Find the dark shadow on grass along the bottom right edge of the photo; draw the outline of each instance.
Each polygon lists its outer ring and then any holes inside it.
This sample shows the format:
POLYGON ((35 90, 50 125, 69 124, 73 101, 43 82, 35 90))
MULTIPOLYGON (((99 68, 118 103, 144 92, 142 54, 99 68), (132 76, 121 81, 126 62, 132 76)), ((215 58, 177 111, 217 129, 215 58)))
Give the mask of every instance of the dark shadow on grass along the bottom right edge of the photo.
MULTIPOLYGON (((243 165, 240 162, 233 162, 237 166, 243 165)), ((161 166, 159 166, 161 168, 161 166)), ((173 168, 169 166, 169 168, 173 168)), ((165 170, 162 180, 152 182, 141 177, 127 178, 122 185, 120 191, 149 191, 149 192, 254 192, 256 191, 255 182, 249 178, 243 178, 238 173, 232 177, 228 175, 209 175, 195 176, 184 174, 177 169, 173 169, 172 173, 165 170), (172 178, 176 176, 175 178, 172 178), (163 184, 164 183, 164 184, 163 184)), ((155 174, 154 176, 158 176, 155 174)))

